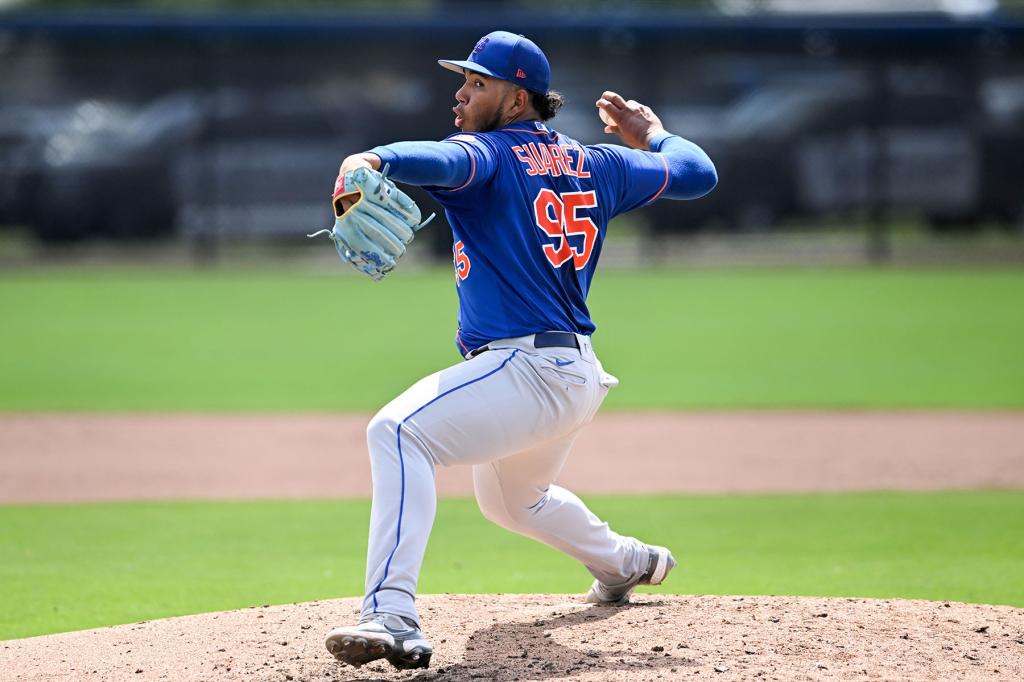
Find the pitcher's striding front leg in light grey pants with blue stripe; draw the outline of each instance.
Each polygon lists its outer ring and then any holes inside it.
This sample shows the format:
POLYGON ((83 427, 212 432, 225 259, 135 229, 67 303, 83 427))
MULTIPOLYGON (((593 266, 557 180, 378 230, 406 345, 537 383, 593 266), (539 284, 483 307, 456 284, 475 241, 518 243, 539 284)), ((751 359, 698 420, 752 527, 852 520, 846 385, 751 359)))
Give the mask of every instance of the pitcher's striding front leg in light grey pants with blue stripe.
POLYGON ((370 423, 364 617, 394 613, 419 623, 416 584, 436 508, 434 466, 501 457, 536 437, 542 409, 520 397, 534 371, 515 355, 488 352, 426 377, 370 423))

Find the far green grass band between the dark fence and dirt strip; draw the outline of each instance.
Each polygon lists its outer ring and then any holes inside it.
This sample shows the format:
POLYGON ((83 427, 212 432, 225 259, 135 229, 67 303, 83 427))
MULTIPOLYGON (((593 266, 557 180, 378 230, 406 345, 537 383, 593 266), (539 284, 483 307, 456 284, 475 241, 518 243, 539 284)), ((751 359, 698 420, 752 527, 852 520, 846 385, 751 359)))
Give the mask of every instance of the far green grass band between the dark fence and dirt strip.
MULTIPOLYGON (((1024 408, 1024 271, 602 272, 610 408, 1024 408)), ((451 271, 0 275, 0 410, 374 410, 459 360, 451 271)))

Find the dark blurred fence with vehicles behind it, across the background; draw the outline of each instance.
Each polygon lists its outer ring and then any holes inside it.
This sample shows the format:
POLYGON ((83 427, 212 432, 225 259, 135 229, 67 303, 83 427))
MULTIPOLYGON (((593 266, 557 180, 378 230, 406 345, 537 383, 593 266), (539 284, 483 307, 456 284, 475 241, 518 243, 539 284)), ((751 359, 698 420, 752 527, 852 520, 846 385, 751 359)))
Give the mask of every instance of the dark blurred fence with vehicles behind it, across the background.
POLYGON ((497 28, 548 53, 568 99, 554 127, 604 141, 593 102, 613 89, 709 151, 718 189, 645 209, 652 231, 1024 225, 1022 22, 468 10, 0 15, 0 224, 201 242, 324 226, 346 154, 453 131, 460 82, 435 59, 497 28))

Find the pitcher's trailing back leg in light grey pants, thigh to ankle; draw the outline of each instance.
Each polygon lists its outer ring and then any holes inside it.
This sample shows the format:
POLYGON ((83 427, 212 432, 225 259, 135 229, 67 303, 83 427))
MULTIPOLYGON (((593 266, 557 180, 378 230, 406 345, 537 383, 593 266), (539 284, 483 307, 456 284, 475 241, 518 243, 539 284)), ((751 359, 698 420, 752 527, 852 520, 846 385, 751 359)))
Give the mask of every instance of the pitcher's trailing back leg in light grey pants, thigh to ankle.
POLYGON ((473 467, 483 515, 582 562, 599 581, 617 584, 647 567, 646 546, 621 536, 571 492, 553 484, 575 434, 473 467))

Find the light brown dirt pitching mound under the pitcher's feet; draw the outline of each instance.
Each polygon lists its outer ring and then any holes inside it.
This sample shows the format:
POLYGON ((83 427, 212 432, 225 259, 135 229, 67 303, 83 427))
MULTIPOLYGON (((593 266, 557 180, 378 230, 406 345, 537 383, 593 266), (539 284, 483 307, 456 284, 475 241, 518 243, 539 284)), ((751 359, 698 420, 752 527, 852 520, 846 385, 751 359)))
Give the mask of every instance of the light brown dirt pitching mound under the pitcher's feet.
POLYGON ((3 642, 10 680, 1024 679, 1024 609, 874 599, 642 595, 420 599, 430 669, 343 667, 324 635, 357 600, 3 642))

